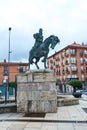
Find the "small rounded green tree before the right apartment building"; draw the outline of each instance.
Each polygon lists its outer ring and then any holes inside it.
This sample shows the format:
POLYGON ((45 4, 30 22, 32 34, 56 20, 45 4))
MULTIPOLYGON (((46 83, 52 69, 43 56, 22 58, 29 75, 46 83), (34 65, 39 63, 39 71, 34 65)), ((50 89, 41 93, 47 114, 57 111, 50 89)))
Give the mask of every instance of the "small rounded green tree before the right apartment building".
POLYGON ((74 92, 76 89, 82 89, 82 81, 80 80, 71 80, 68 84, 73 86, 74 92))

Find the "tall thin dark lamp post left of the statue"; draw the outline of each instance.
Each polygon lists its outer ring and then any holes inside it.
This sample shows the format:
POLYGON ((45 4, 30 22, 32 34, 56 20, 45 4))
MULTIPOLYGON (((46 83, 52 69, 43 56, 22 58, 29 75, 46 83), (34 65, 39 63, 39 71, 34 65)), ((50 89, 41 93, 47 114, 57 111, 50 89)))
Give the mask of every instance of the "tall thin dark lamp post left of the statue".
POLYGON ((7 81, 7 94, 6 100, 9 99, 9 82, 10 82, 10 36, 11 36, 11 27, 9 27, 9 48, 8 48, 8 81, 7 81))

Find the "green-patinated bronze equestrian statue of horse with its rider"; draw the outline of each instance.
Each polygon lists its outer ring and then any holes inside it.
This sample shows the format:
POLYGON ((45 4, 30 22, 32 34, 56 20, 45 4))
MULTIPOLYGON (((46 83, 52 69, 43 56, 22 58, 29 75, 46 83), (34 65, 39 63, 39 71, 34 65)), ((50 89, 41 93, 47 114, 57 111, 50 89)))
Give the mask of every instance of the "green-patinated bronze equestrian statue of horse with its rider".
POLYGON ((46 69, 46 60, 49 53, 49 47, 54 49, 56 44, 60 42, 57 36, 51 35, 43 41, 43 30, 39 29, 39 33, 33 34, 35 39, 35 44, 29 52, 29 63, 28 69, 30 70, 30 64, 35 64, 37 69, 39 69, 38 62, 40 58, 43 57, 42 62, 44 63, 44 68, 46 69))

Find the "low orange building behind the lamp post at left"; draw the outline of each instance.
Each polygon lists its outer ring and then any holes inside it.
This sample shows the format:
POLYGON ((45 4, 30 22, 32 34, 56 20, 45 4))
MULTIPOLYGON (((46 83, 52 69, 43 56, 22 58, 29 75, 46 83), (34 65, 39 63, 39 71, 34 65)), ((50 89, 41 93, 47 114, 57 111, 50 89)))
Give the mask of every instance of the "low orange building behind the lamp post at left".
MULTIPOLYGON (((15 76, 19 73, 25 73, 28 70, 28 63, 10 62, 9 81, 15 81, 15 76)), ((0 85, 8 80, 8 62, 0 62, 0 85)))

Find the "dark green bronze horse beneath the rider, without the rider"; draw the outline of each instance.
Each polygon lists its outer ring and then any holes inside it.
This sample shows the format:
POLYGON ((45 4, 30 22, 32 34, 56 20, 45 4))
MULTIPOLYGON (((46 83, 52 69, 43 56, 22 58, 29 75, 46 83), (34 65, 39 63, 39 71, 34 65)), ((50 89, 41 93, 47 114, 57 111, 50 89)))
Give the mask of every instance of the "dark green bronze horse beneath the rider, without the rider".
POLYGON ((29 52, 29 64, 28 69, 30 70, 30 64, 35 64, 37 69, 39 69, 38 62, 40 58, 43 57, 42 62, 44 62, 44 68, 47 68, 46 66, 46 60, 49 53, 49 46, 50 48, 54 49, 56 44, 60 42, 59 38, 57 36, 51 35, 48 38, 46 38, 38 48, 32 47, 32 49, 29 52))

